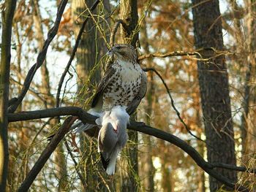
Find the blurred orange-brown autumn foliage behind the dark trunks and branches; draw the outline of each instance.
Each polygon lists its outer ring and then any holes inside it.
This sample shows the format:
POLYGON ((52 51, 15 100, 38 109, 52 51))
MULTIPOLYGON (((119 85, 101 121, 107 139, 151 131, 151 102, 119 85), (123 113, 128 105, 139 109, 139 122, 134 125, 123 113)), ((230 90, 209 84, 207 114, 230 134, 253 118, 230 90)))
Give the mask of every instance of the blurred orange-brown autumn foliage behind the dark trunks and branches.
MULTIPOLYGON (((135 1, 136 2, 136 1, 135 1)), ((235 131, 237 164, 255 167, 256 86, 255 86, 255 20, 254 1, 222 0, 221 8, 226 64, 229 73, 230 99, 235 131), (252 61, 252 62, 251 62, 252 61), (247 88, 247 89, 246 89, 247 88), (249 88, 249 92, 248 92, 249 88), (247 92, 246 92, 247 91, 247 92), (248 109, 248 111, 244 110, 248 109), (246 134, 243 132, 246 123, 246 134)), ((45 64, 31 84, 18 111, 39 110, 56 106, 59 78, 67 65, 75 38, 88 14, 91 0, 71 0, 61 20, 58 35, 48 50, 45 64)), ((87 107, 100 74, 105 71, 110 31, 121 17, 120 1, 102 1, 86 26, 75 60, 61 89, 61 106, 87 107), (94 68, 96 67, 96 68, 94 68), (90 72, 92 69, 93 72, 90 72)), ((59 0, 18 0, 13 22, 10 97, 17 96, 31 65, 53 26, 59 0)), ((211 14, 211 13, 209 13, 211 14)), ((138 1, 138 53, 195 51, 190 1, 138 1), (145 17, 144 17, 145 16, 145 17)), ((121 42, 118 30, 116 43, 121 42)), ((206 139, 200 107, 197 80, 197 58, 176 56, 148 58, 143 68, 154 67, 165 80, 181 118, 193 134, 206 139)), ((170 104, 170 98, 159 77, 148 72, 148 92, 138 108, 137 119, 175 134, 192 145, 206 158, 206 146, 187 133, 170 104)), ((17 191, 34 162, 47 145, 47 137, 59 128, 54 119, 10 123, 9 191, 17 191)), ((68 135, 31 186, 31 191, 124 191, 127 164, 118 161, 117 172, 107 177, 99 161, 95 139, 68 135), (81 184, 77 169, 86 180, 81 184)), ((208 175, 184 151, 154 137, 138 134, 138 172, 133 177, 138 191, 208 191, 208 175)), ((122 153, 124 158, 127 153, 122 153)), ((242 184, 255 185, 252 174, 238 174, 242 184)))

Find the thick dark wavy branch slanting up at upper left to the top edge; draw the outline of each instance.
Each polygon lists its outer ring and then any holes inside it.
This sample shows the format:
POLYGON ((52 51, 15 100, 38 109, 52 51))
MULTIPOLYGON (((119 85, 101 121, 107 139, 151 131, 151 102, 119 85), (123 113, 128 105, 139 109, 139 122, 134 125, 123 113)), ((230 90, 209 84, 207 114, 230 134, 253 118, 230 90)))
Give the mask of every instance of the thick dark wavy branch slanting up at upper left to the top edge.
POLYGON ((39 55, 37 56, 37 63, 34 64, 31 69, 29 69, 28 74, 26 75, 26 79, 24 81, 23 88, 21 90, 20 95, 18 96, 18 99, 15 101, 14 104, 12 104, 8 108, 8 112, 15 112, 19 104, 23 101, 24 97, 26 96, 27 91, 29 90, 30 84, 34 78, 34 74, 37 72, 37 69, 39 69, 40 66, 42 66, 43 62, 45 61, 46 53, 48 50, 48 47, 50 45, 50 42, 53 40, 53 38, 56 36, 59 23, 61 22, 61 17, 63 15, 64 9, 66 7, 67 0, 62 0, 58 7, 58 12, 56 15, 56 20, 54 23, 53 28, 50 28, 50 31, 48 31, 48 37, 45 40, 45 44, 42 47, 42 50, 40 51, 39 55))

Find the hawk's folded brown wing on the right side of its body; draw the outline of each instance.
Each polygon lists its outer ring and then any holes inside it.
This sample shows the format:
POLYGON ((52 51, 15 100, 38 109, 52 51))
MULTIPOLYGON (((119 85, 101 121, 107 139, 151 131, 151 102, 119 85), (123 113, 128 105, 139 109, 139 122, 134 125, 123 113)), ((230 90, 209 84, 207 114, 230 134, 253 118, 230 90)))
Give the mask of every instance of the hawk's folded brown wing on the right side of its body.
POLYGON ((138 105, 140 104, 141 99, 143 99, 143 97, 146 95, 147 83, 148 83, 148 80, 147 80, 146 73, 142 72, 139 93, 135 96, 135 99, 133 99, 128 104, 127 112, 128 112, 129 115, 131 115, 133 112, 135 112, 138 105))

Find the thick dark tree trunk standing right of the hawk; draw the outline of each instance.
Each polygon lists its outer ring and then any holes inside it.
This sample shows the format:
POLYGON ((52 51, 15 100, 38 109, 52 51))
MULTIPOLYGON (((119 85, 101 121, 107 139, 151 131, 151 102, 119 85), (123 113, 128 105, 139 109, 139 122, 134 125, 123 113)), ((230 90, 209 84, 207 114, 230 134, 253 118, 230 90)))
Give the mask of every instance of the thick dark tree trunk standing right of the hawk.
MULTIPOLYGON (((195 47, 223 50, 219 1, 193 0, 192 4, 195 47)), ((202 50, 200 54, 203 58, 213 57, 208 62, 197 62, 208 161, 236 165, 225 57, 216 56, 211 49, 202 50)), ((227 169, 218 169, 218 172, 236 182, 236 172, 227 169)), ((222 183, 210 177, 211 191, 221 187, 222 183)))

